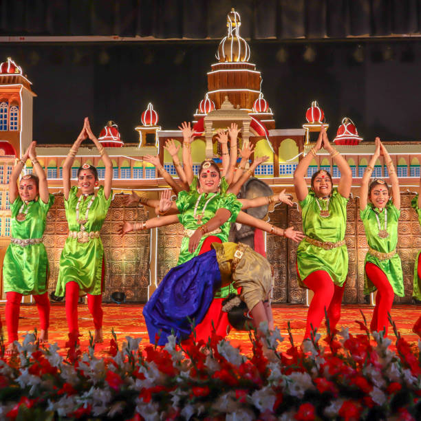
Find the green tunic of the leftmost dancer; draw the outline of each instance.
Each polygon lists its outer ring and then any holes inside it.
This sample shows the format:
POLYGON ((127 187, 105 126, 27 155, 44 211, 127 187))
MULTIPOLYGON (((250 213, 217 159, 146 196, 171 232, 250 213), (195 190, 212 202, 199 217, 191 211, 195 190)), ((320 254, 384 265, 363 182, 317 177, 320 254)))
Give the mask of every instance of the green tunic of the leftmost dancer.
MULTIPOLYGON (((54 203, 50 195, 48 202, 41 199, 29 204, 28 214, 24 221, 16 219, 23 201, 17 197, 10 208, 12 211, 12 238, 35 239, 43 237, 45 217, 54 203)), ((23 212, 27 206, 23 208, 23 212)), ((49 275, 47 252, 43 243, 29 244, 22 247, 10 244, 3 261, 3 285, 5 292, 19 292, 23 295, 44 294, 47 291, 49 275)))

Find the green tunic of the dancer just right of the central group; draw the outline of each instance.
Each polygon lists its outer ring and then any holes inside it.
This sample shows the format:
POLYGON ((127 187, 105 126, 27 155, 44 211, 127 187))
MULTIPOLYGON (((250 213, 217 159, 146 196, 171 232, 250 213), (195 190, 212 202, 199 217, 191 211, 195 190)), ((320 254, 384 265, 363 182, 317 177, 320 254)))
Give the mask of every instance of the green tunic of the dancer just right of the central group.
MULTIPOLYGON (((320 208, 324 210, 327 201, 317 199, 314 191, 309 191, 307 197, 299 202, 301 215, 303 218, 303 232, 308 237, 318 241, 330 241, 337 243, 345 238, 345 228, 347 226, 347 202, 348 199, 341 196, 336 189, 332 192, 329 201, 330 216, 321 217, 320 208)), ((342 286, 347 279, 348 273, 348 252, 347 246, 325 250, 324 248, 313 246, 305 239, 301 241, 296 251, 296 263, 298 267, 299 285, 307 288, 303 280, 316 270, 325 270, 330 274, 332 281, 342 286)))

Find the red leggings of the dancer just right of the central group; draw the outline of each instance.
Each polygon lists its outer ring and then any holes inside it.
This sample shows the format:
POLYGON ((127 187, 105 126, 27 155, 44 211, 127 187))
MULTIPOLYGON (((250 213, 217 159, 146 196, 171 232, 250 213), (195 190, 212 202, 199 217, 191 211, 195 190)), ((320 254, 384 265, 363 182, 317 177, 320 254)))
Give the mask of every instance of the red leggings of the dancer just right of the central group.
POLYGON ((330 274, 325 270, 316 270, 310 273, 303 282, 314 292, 307 312, 304 339, 310 338, 310 332, 313 329, 319 329, 319 325, 325 316, 325 309, 329 318, 330 330, 335 330, 339 319, 341 319, 344 286, 335 285, 330 274))

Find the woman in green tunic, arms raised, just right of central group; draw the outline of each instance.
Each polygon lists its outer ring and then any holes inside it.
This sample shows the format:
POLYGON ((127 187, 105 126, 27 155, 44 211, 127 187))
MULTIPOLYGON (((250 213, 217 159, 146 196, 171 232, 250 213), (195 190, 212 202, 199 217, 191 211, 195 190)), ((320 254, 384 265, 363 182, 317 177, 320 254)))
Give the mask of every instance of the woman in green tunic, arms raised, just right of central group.
POLYGON ((347 279, 348 253, 345 246, 347 202, 351 191, 352 172, 345 159, 332 147, 322 126, 319 139, 310 153, 299 162, 294 172, 296 197, 299 199, 305 239, 296 252, 299 284, 314 292, 307 313, 304 339, 312 329, 318 329, 325 310, 330 327, 335 329, 341 317, 343 284, 347 279), (308 191, 305 175, 317 152, 326 149, 338 169, 341 180, 338 188, 332 186, 330 173, 317 171, 312 176, 308 191))

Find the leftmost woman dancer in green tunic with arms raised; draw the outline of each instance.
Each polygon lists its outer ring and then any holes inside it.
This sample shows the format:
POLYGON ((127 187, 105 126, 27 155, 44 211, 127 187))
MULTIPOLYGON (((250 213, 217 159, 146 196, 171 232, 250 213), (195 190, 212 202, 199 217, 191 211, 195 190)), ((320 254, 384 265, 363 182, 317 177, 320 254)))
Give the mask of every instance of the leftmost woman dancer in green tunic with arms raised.
POLYGON ((6 325, 8 328, 8 354, 16 350, 18 340, 19 308, 23 295, 34 296, 41 321, 40 342, 48 341, 50 301, 47 295, 49 267, 47 252, 42 242, 45 217, 54 203, 48 193, 47 178, 36 159, 36 142, 14 166, 9 182, 12 211, 12 238, 3 261, 3 281, 6 291, 6 325), (17 180, 28 156, 35 174, 23 175, 17 180))

